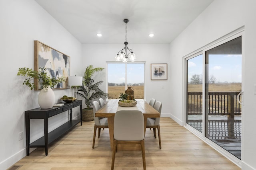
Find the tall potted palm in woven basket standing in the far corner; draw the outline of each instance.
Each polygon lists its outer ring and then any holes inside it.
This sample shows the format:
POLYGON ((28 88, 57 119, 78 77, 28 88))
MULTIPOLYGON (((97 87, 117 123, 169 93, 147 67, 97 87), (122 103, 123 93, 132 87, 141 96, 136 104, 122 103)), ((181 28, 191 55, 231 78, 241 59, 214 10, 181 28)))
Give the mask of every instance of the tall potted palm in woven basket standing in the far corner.
POLYGON ((82 120, 83 121, 92 121, 94 120, 93 110, 92 110, 92 101, 97 98, 106 98, 107 93, 104 93, 100 90, 99 86, 103 81, 94 82, 92 75, 95 72, 103 71, 104 68, 97 67, 93 68, 92 65, 87 66, 84 71, 83 76, 83 86, 80 86, 77 90, 77 94, 85 99, 86 108, 82 110, 82 120))

